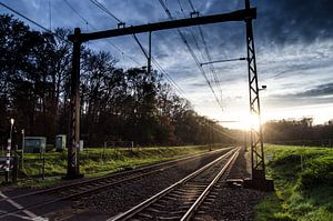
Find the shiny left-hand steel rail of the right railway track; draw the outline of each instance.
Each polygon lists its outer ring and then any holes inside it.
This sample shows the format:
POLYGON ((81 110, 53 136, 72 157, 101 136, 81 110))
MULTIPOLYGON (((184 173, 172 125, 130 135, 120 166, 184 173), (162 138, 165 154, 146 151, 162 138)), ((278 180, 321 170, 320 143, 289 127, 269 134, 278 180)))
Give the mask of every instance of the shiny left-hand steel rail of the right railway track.
MULTIPOLYGON (((239 150, 236 150, 236 151, 239 151, 239 150)), ((173 183, 169 188, 167 188, 167 189, 162 190, 161 192, 154 194, 153 197, 149 198, 148 200, 141 202, 140 204, 133 207, 132 209, 130 209, 130 210, 128 210, 123 213, 120 213, 120 214, 118 214, 113 218, 108 219, 107 221, 120 221, 120 220, 128 220, 128 219, 132 218, 133 215, 135 215, 140 211, 142 211, 143 209, 148 208, 149 205, 151 205, 152 203, 154 203, 155 201, 158 201, 159 199, 161 199, 162 197, 164 197, 165 194, 168 194, 169 192, 174 190, 176 187, 179 187, 179 185, 183 184, 184 182, 191 180, 192 178, 199 175, 201 172, 203 172, 206 169, 211 168, 212 165, 214 165, 220 160, 222 160, 224 158, 228 158, 233 152, 234 152, 234 150, 229 151, 228 153, 225 153, 225 154, 221 155, 220 158, 215 159, 214 161, 205 164, 201 169, 194 171, 193 173, 189 174, 188 177, 185 177, 185 178, 181 179, 180 181, 173 183)))

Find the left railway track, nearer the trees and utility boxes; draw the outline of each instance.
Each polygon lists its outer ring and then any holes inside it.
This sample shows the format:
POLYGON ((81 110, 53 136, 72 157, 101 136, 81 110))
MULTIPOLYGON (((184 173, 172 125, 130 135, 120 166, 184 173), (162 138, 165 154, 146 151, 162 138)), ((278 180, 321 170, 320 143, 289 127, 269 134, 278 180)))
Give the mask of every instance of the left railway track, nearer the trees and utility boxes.
MULTIPOLYGON (((39 191, 29 192, 29 193, 21 194, 21 195, 11 197, 10 200, 24 200, 24 199, 29 199, 30 197, 33 197, 33 195, 42 195, 42 194, 53 194, 54 195, 54 198, 52 198, 52 199, 37 201, 37 202, 30 203, 28 205, 24 205, 20 209, 13 209, 13 210, 6 211, 6 212, 1 211, 0 220, 4 219, 6 217, 10 217, 16 213, 19 213, 23 210, 42 208, 42 207, 46 207, 46 205, 49 205, 52 203, 57 203, 60 201, 77 199, 82 195, 97 193, 109 187, 117 185, 117 184, 120 184, 120 183, 123 183, 127 181, 135 180, 135 179, 142 178, 144 175, 162 172, 163 170, 167 170, 167 169, 170 169, 173 167, 178 167, 178 165, 186 163, 189 161, 202 158, 203 155, 210 155, 210 154, 219 153, 219 152, 225 151, 225 150, 228 150, 228 149, 221 149, 221 150, 213 151, 213 152, 195 154, 195 155, 191 155, 191 157, 186 157, 186 158, 182 158, 182 159, 178 159, 178 160, 172 160, 172 161, 167 161, 167 162, 162 162, 162 163, 158 163, 158 164, 153 164, 153 165, 142 167, 142 168, 131 170, 131 171, 123 171, 123 172, 114 173, 114 174, 102 177, 102 178, 95 178, 95 179, 68 183, 68 184, 63 184, 60 187, 49 188, 46 190, 39 190, 39 191)), ((7 198, 1 199, 0 203, 6 200, 8 200, 8 199, 7 198)))

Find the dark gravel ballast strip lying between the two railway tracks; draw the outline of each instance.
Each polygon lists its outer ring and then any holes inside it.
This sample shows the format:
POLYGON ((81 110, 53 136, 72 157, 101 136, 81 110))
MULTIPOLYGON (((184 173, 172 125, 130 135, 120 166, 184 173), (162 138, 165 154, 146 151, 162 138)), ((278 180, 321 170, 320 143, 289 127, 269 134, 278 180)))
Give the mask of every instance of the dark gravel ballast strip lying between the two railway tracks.
POLYGON ((153 173, 135 181, 117 185, 99 194, 87 198, 84 204, 90 209, 108 212, 111 217, 115 215, 137 205, 145 199, 149 199, 221 154, 223 154, 223 152, 203 157, 200 160, 180 164, 163 170, 160 173, 153 173))

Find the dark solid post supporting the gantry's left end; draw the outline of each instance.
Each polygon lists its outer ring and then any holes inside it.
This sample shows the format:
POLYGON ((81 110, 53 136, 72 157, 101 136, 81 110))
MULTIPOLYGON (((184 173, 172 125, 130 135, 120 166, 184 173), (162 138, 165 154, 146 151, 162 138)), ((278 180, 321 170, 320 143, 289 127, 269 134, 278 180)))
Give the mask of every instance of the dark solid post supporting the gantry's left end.
POLYGON ((72 71, 71 71, 71 115, 68 147, 67 179, 82 177, 79 170, 79 144, 80 144, 80 57, 81 57, 81 30, 74 29, 72 71))

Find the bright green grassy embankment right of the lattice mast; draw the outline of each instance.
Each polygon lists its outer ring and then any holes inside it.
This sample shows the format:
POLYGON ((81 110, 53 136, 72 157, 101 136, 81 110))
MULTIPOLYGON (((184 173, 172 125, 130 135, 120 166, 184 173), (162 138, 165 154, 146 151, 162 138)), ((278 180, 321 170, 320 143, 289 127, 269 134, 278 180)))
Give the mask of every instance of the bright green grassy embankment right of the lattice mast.
POLYGON ((333 149, 265 145, 275 193, 256 205, 255 220, 333 220, 333 149))

